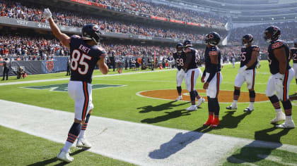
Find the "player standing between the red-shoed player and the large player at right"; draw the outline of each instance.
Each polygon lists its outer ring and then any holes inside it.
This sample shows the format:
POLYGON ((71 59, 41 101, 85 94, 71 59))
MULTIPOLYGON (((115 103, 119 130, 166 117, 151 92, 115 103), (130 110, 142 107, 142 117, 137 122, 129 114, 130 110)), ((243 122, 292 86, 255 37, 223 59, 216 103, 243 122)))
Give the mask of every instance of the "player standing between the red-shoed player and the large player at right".
POLYGON ((259 56, 260 47, 252 45, 254 38, 252 34, 245 34, 243 36, 243 48, 241 49, 241 60, 240 69, 238 70, 238 75, 235 77, 234 92, 233 92, 233 103, 228 106, 228 110, 237 109, 237 101, 240 96, 240 87, 244 82, 247 82, 248 91, 250 93, 250 106, 245 108, 244 111, 254 110, 255 103, 255 77, 256 77, 256 66, 257 57, 259 56))

